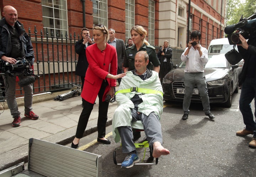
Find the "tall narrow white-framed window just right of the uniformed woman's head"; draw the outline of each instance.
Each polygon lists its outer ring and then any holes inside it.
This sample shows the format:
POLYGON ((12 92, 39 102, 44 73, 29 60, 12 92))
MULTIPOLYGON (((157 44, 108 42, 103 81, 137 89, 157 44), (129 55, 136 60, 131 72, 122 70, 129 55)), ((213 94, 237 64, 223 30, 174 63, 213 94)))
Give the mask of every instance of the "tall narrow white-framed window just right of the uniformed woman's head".
POLYGON ((155 1, 149 0, 149 17, 148 17, 148 42, 155 44, 155 1))

